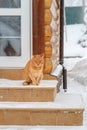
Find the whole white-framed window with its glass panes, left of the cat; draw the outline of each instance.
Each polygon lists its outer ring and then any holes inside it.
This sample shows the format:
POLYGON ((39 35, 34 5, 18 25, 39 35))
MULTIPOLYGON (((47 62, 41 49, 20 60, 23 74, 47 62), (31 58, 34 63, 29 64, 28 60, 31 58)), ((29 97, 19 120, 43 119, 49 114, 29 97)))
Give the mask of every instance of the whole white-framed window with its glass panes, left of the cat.
POLYGON ((31 0, 0 0, 0 68, 23 68, 31 54, 31 0))

